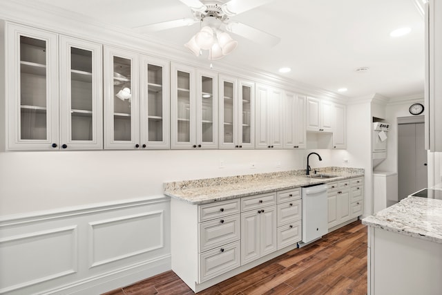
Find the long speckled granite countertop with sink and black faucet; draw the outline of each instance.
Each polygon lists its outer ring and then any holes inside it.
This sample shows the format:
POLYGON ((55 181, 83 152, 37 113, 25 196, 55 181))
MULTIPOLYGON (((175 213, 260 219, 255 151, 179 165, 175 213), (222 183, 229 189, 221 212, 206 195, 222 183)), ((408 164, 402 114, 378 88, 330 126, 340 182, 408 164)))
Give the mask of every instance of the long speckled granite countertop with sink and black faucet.
POLYGON ((364 175, 364 169, 326 167, 316 170, 318 173, 336 175, 336 178, 310 178, 305 175, 305 169, 302 169, 276 173, 229 176, 224 178, 166 182, 164 183, 164 194, 191 204, 208 204, 222 200, 258 195, 260 193, 305 187, 309 184, 345 180, 364 175))

